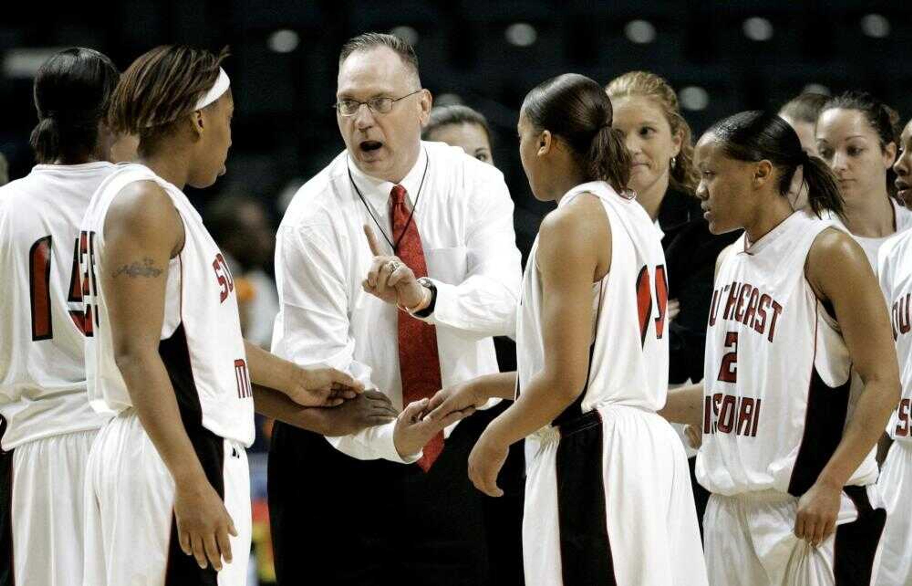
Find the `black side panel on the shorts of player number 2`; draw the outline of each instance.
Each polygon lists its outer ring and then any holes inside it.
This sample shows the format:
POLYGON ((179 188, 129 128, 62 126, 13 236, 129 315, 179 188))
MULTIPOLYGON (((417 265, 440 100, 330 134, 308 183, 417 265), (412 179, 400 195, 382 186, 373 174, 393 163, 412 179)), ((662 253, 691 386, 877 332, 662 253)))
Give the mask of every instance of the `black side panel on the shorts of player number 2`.
POLYGON ((833 546, 833 574, 836 586, 871 583, 874 558, 886 524, 886 510, 871 508, 865 487, 844 487, 858 508, 858 518, 836 528, 833 546))

